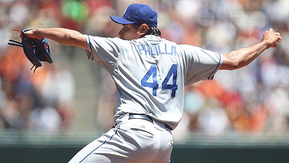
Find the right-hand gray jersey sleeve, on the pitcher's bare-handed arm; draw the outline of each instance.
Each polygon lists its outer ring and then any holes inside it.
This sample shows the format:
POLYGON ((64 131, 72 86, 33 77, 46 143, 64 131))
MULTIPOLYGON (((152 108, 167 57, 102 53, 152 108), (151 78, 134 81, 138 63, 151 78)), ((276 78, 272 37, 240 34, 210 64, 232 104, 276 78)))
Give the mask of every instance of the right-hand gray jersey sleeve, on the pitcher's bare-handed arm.
POLYGON ((223 55, 191 45, 181 45, 186 68, 185 85, 212 80, 223 62, 223 55))

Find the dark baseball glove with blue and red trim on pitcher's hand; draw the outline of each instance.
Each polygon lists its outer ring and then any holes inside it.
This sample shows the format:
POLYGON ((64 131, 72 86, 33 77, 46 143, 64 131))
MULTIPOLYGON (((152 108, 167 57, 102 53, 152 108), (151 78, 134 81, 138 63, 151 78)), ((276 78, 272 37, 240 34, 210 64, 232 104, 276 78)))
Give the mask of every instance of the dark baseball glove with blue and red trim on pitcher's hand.
POLYGON ((41 61, 52 63, 52 58, 50 55, 49 43, 47 42, 47 40, 45 38, 38 40, 28 37, 25 32, 29 30, 31 29, 26 29, 22 31, 14 29, 14 31, 20 32, 20 37, 22 40, 21 42, 9 40, 14 43, 9 42, 8 44, 13 46, 20 46, 23 48, 26 57, 33 64, 31 70, 35 66, 35 69, 33 71, 35 72, 36 68, 42 66, 41 61))

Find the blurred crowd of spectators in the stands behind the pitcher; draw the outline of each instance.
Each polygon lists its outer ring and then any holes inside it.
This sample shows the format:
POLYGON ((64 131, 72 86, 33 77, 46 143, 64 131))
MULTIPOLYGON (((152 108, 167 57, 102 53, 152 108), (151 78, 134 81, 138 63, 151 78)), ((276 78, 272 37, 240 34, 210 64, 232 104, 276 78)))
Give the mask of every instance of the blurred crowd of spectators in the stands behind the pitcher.
MULTIPOLYGON (((218 71, 212 81, 187 86, 176 137, 194 131, 208 135, 288 131, 287 0, 0 0, 0 128, 60 129, 73 119, 74 76, 65 65, 69 55, 53 55, 59 62, 44 64, 33 73, 22 49, 7 45, 19 37, 12 29, 64 27, 117 37, 121 26, 109 16, 121 16, 131 3, 146 3, 158 12, 163 38, 218 53, 256 43, 269 28, 281 33, 278 48, 264 51, 248 66, 218 71)), ((52 44, 52 54, 67 53, 52 44)), ((102 90, 97 118, 108 128, 113 124, 115 88, 108 73, 100 74, 102 88, 110 88, 102 90)))

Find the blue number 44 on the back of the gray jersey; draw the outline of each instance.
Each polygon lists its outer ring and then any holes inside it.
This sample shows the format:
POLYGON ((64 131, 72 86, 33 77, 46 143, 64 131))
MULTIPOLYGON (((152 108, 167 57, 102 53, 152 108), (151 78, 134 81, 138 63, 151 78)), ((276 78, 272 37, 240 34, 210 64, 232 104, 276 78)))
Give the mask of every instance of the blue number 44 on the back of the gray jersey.
MULTIPOLYGON (((178 65, 173 64, 162 83, 162 90, 172 90, 172 96, 176 96, 176 90, 178 90, 177 85, 177 75, 178 75, 178 65), (168 84, 171 76, 173 76, 173 84, 168 84)), ((157 80, 157 65, 152 64, 151 68, 147 72, 145 76, 141 79, 141 86, 142 87, 149 87, 153 89, 153 96, 157 96, 157 90, 159 89, 159 84, 157 80), (149 83, 149 78, 153 76, 153 83, 149 83)))

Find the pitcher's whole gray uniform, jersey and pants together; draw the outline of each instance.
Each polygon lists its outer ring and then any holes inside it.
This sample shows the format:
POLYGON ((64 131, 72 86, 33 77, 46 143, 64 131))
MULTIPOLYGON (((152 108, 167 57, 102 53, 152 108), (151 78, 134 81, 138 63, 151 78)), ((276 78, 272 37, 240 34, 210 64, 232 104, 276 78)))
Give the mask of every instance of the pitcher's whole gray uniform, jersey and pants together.
POLYGON ((222 54, 154 35, 131 41, 86 35, 86 40, 88 58, 105 68, 116 85, 117 126, 84 147, 71 162, 141 162, 145 158, 143 162, 169 162, 173 138, 164 124, 177 127, 184 87, 213 79, 222 54), (146 114, 154 123, 128 120, 127 113, 146 114), (159 153, 164 160, 149 158, 150 153, 159 153))

